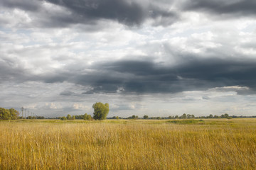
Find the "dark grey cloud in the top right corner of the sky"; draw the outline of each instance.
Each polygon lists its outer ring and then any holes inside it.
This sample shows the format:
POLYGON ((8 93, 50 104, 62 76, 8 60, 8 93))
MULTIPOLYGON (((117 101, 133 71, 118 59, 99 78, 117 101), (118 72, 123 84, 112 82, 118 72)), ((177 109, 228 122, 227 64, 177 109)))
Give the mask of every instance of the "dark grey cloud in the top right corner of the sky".
POLYGON ((188 0, 183 8, 189 11, 205 11, 217 15, 228 14, 230 16, 256 16, 256 1, 224 1, 224 0, 188 0))

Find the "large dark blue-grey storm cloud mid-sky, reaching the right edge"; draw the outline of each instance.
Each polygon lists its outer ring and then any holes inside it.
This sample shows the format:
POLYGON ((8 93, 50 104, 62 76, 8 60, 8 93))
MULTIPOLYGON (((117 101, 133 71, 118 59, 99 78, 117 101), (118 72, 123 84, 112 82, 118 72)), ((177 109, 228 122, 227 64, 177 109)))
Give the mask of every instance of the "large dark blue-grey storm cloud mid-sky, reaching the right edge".
MULTIPOLYGON (((66 81, 91 86, 93 93, 176 93, 221 86, 247 86, 256 91, 255 61, 198 60, 190 58, 175 67, 154 62, 119 61, 95 64, 93 72, 66 81)), ((58 79, 58 78, 57 78, 58 79)), ((236 90, 242 94, 241 91, 236 90)), ((245 93, 243 93, 245 94, 245 93)))

